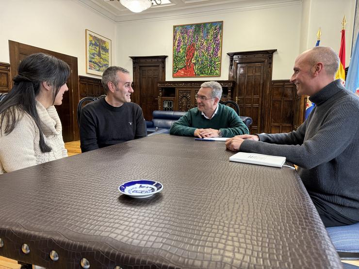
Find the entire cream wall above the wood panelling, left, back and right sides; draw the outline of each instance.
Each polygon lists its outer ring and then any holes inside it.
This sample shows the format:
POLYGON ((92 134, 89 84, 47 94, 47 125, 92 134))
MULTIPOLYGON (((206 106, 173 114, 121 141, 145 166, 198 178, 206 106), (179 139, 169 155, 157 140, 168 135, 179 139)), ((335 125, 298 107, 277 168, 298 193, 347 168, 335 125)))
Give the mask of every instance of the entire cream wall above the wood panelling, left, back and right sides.
POLYGON ((75 56, 79 75, 91 76, 85 73, 85 29, 89 29, 112 40, 114 65, 131 71, 129 56, 168 55, 166 80, 188 80, 172 78, 173 25, 223 20, 221 77, 210 79, 228 79, 227 52, 273 48, 277 52, 272 79, 289 79, 295 57, 315 45, 319 26, 321 45, 339 51, 344 14, 349 65, 354 8, 355 0, 303 0, 216 15, 114 23, 77 0, 0 0, 0 62, 9 63, 10 39, 75 56))

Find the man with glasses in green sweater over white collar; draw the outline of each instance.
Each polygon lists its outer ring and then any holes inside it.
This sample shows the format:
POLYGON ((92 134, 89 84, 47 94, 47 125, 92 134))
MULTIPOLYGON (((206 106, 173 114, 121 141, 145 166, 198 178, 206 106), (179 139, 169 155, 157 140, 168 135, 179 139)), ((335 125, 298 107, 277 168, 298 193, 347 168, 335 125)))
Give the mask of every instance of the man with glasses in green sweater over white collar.
POLYGON ((175 122, 171 126, 170 134, 199 138, 249 134, 248 128, 237 113, 218 103, 221 96, 221 84, 216 81, 202 83, 196 95, 198 106, 175 122))

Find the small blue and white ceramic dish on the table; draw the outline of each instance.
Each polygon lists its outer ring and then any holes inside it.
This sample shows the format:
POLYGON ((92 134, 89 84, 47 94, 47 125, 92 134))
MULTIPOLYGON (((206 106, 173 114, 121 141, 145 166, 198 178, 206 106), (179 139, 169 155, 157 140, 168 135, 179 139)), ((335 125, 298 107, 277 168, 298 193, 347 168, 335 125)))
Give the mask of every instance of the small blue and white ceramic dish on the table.
POLYGON ((163 190, 163 185, 157 181, 140 179, 125 182, 118 190, 133 198, 147 198, 163 190))

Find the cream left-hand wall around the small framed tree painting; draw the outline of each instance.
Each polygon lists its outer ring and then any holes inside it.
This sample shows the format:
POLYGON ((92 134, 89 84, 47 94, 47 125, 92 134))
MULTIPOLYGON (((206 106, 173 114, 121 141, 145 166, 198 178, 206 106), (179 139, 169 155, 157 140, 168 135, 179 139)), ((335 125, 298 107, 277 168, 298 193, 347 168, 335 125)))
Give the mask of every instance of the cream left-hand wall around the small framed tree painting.
POLYGON ((115 61, 115 23, 77 0, 0 0, 0 62, 10 63, 8 40, 13 40, 77 57, 79 75, 91 76, 85 29, 112 40, 115 61))

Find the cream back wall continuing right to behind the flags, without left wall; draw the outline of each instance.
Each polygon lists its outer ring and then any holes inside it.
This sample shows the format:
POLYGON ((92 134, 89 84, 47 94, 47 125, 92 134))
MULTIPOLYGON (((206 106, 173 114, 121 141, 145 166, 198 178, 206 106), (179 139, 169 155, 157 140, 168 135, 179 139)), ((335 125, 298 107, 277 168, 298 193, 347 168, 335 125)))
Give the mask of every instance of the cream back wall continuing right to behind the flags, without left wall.
POLYGON ((289 79, 296 56, 315 46, 319 26, 322 27, 323 34, 321 45, 333 47, 339 52, 344 14, 348 20, 346 65, 349 64, 354 8, 355 0, 303 0, 276 8, 119 23, 117 63, 131 70, 132 62, 128 56, 168 55, 166 80, 188 80, 172 78, 173 25, 223 20, 221 76, 210 79, 228 79, 228 52, 272 48, 277 48, 273 59, 272 79, 289 79))

